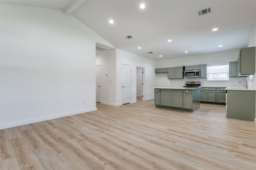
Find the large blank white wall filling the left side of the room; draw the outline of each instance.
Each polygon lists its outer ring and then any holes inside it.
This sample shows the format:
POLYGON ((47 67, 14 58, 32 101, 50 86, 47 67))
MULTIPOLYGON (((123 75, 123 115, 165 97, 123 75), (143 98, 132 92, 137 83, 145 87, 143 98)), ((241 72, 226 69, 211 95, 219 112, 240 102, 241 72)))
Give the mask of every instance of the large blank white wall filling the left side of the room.
POLYGON ((96 110, 95 45, 111 45, 61 10, 0 12, 0 128, 96 110))

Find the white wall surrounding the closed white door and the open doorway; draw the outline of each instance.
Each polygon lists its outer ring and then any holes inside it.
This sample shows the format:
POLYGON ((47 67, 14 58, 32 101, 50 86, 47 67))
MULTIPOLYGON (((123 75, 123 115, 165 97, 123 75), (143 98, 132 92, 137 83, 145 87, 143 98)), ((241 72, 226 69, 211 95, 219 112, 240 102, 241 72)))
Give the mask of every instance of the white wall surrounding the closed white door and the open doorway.
POLYGON ((136 72, 137 67, 144 68, 144 98, 143 100, 154 99, 154 89, 156 87, 156 75, 155 72, 156 61, 141 57, 126 51, 116 50, 116 100, 117 104, 122 104, 122 90, 121 90, 121 64, 128 64, 131 68, 130 80, 131 80, 131 101, 136 102, 136 72))

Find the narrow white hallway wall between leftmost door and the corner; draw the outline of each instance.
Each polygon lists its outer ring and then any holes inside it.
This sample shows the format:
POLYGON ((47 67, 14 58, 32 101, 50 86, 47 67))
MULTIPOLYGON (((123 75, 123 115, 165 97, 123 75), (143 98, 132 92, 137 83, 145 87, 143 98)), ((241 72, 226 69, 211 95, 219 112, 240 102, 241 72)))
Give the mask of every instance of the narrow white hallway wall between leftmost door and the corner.
POLYGON ((96 54, 97 64, 102 67, 101 103, 116 106, 116 49, 96 54))

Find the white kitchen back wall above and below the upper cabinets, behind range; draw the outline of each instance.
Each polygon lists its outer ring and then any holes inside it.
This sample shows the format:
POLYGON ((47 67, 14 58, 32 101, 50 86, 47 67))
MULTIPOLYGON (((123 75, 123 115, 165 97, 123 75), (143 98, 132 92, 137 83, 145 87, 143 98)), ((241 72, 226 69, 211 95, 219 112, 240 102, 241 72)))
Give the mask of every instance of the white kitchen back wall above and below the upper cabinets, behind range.
MULTIPOLYGON (((228 64, 230 61, 238 60, 239 49, 231 51, 223 51, 218 53, 208 53, 203 55, 194 55, 182 58, 168 59, 157 61, 156 68, 175 67, 175 66, 189 66, 196 64, 228 64)), ((201 86, 208 87, 230 87, 230 86, 245 86, 245 82, 238 83, 240 78, 230 78, 229 81, 225 82, 208 82, 204 78, 184 78, 180 80, 169 80, 167 73, 158 73, 157 86, 184 86, 186 81, 200 81, 201 86)))

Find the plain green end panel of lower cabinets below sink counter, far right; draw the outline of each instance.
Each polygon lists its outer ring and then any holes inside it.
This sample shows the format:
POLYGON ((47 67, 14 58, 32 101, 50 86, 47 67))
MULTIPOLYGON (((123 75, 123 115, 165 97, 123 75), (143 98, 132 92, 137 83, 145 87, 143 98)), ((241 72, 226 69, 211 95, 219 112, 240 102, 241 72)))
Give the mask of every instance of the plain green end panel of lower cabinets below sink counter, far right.
POLYGON ((255 90, 227 90, 227 117, 254 121, 255 90))

